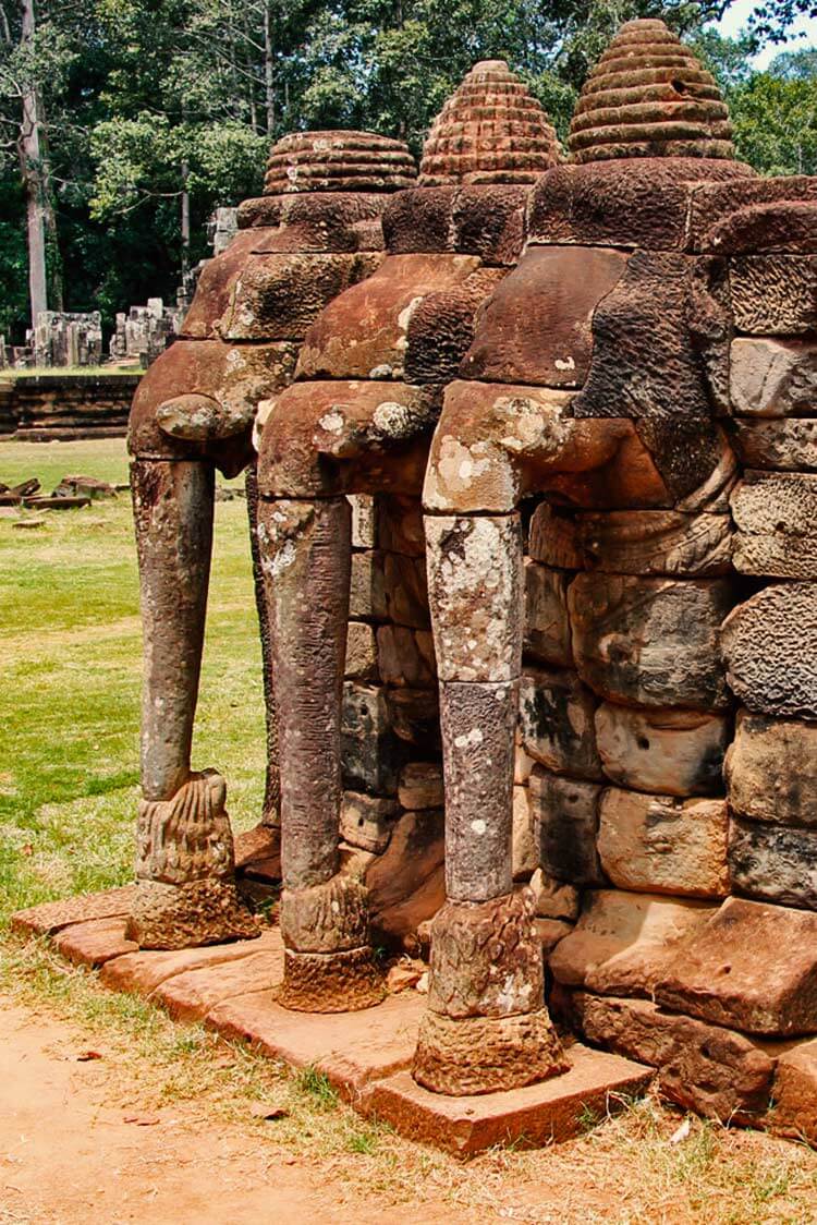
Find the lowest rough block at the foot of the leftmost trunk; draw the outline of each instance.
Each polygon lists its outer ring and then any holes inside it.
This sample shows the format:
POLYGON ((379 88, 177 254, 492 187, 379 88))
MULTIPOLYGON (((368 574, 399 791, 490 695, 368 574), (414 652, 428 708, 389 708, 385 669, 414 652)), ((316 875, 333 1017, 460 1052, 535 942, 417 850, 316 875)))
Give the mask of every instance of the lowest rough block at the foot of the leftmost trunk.
POLYGON ((217 877, 185 884, 140 881, 125 929, 140 948, 197 948, 260 933, 233 882, 217 877))

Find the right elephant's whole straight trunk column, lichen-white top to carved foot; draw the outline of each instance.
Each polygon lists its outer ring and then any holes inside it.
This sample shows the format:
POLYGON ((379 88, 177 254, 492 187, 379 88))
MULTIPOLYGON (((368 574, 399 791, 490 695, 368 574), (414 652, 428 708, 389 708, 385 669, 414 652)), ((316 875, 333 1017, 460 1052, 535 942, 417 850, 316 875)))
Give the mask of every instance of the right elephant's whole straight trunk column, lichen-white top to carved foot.
POLYGON ((446 905, 431 931, 414 1078, 454 1095, 565 1071, 533 897, 512 883, 524 609, 518 514, 426 516, 446 782, 446 905))

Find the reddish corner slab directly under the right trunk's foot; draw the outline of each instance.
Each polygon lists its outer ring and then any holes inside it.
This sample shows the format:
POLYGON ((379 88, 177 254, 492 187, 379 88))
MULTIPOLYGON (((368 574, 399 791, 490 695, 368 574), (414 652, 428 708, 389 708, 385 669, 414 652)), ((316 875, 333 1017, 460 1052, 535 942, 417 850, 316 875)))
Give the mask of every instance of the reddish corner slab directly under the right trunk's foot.
POLYGON ((537 1148, 571 1139, 590 1112, 603 1117, 641 1093, 653 1072, 619 1055, 570 1047, 570 1072, 505 1093, 450 1098, 420 1088, 408 1071, 375 1084, 366 1112, 414 1140, 456 1156, 495 1145, 537 1148))

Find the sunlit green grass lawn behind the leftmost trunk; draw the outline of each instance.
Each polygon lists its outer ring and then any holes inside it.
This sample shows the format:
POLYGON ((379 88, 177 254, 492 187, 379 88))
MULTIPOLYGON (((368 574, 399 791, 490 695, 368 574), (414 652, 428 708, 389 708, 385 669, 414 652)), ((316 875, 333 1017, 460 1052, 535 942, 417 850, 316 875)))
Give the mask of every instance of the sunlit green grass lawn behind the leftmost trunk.
MULTIPOLYGON (((0 442, 0 481, 50 492, 82 473, 127 479, 125 442, 0 442)), ((127 492, 0 517, 0 925, 12 910, 131 876, 141 627, 127 492)), ((194 766, 228 779, 235 828, 263 795, 263 704, 246 503, 217 503, 194 766)))

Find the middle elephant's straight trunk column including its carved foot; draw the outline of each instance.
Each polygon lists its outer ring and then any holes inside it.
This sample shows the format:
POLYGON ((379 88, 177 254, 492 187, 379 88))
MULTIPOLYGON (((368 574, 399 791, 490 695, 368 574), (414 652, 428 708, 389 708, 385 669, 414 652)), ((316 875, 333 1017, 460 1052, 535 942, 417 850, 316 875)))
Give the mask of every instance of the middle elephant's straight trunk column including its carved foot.
POLYGON ((258 543, 280 750, 280 1003, 301 1012, 366 1008, 383 993, 366 889, 338 872, 349 503, 262 500, 258 543))

